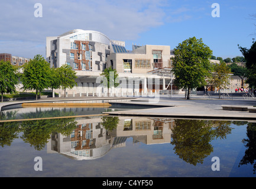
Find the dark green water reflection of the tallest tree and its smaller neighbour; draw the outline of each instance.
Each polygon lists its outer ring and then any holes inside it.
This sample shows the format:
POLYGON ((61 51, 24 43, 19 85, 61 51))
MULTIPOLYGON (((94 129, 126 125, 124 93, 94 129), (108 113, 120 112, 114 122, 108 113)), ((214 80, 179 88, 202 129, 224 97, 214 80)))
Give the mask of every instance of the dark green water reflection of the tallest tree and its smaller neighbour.
POLYGON ((231 122, 222 120, 175 120, 171 144, 184 161, 196 165, 213 152, 210 141, 231 133, 231 122))

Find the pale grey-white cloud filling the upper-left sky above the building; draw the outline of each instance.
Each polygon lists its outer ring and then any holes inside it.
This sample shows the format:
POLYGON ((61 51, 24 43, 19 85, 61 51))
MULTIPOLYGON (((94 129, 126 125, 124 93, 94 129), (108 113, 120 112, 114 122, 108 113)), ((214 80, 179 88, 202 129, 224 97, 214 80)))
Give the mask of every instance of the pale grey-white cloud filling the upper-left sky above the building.
MULTIPOLYGON (((141 32, 163 24, 165 4, 161 0, 3 1, 0 41, 23 41, 16 48, 25 43, 45 45, 46 37, 73 29, 100 31, 114 40, 135 40, 141 32), (43 5, 42 18, 34 17, 37 2, 43 5)), ((0 51, 7 51, 2 44, 0 51)))

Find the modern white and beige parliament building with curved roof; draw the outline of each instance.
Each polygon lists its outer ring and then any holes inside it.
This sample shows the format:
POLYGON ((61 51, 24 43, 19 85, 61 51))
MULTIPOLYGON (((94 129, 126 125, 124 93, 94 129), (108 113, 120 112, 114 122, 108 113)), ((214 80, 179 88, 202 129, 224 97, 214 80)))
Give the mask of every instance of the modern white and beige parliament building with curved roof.
MULTIPOLYGON (((132 45, 125 48, 124 41, 109 39, 105 34, 90 30, 72 30, 57 37, 46 38, 46 61, 51 67, 70 65, 76 70, 77 86, 69 94, 106 93, 99 76, 108 67, 118 72, 119 86, 112 95, 156 94, 162 90, 175 90, 172 84, 171 60, 168 45, 132 45)), ((179 91, 179 90, 178 90, 179 91)), ((55 90, 60 92, 60 90, 55 90)), ((61 91, 63 94, 63 92, 61 91)))

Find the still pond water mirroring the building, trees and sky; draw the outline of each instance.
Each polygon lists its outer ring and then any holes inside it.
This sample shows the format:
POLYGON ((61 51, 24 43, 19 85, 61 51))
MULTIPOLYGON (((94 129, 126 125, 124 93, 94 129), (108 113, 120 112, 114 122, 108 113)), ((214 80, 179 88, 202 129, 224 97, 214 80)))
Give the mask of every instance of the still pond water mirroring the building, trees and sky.
MULTIPOLYGON (((16 109, 1 117, 37 113, 16 109)), ((0 122, 0 177, 255 177, 255 136, 256 123, 232 120, 92 116, 0 122), (41 157, 42 171, 35 171, 35 157, 41 157)))

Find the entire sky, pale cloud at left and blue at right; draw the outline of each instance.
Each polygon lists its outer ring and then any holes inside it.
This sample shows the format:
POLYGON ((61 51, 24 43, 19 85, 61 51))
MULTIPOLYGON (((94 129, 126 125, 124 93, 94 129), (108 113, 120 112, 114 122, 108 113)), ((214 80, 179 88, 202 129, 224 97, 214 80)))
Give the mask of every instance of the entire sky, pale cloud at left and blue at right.
POLYGON ((46 56, 46 37, 73 29, 96 30, 112 40, 133 44, 170 45, 202 38, 216 57, 242 56, 238 44, 251 47, 256 38, 255 0, 97 0, 0 2, 0 53, 33 58, 46 56), (41 3, 43 17, 34 17, 41 3), (220 17, 212 17, 213 3, 220 17))

